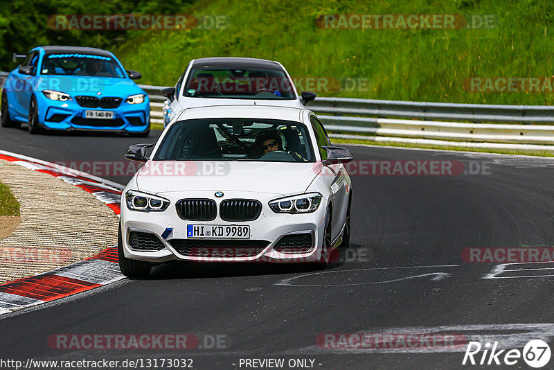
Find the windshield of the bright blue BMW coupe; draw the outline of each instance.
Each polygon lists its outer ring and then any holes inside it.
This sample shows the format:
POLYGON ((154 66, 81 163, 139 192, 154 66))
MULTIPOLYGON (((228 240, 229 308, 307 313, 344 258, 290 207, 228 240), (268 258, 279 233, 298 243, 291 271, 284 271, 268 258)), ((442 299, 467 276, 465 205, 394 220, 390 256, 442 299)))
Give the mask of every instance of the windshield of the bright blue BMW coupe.
POLYGON ((80 53, 46 54, 42 59, 40 73, 43 75, 125 78, 125 73, 114 58, 80 53))

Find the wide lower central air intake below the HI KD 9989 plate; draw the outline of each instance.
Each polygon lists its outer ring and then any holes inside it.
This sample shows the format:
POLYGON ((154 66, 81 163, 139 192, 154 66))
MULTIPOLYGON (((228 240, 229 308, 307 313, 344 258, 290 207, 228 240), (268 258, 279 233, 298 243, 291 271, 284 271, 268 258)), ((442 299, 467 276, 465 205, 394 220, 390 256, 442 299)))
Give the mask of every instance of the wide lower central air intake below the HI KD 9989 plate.
POLYGON ((267 240, 190 240, 172 239, 177 253, 188 257, 235 258, 254 257, 269 245, 267 240))

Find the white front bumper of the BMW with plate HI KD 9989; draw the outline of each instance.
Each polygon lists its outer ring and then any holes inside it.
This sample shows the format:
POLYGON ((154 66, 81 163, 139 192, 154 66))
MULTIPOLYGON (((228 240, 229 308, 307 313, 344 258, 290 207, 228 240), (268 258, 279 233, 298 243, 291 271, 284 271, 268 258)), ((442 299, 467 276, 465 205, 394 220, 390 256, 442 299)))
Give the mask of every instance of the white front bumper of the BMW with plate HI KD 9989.
MULTIPOLYGON (((312 213, 288 214, 275 213, 271 211, 268 205, 271 200, 275 200, 283 195, 224 191, 224 197, 217 198, 214 197, 214 193, 215 191, 159 193, 158 195, 170 200, 168 209, 161 212, 131 211, 127 209, 125 197, 123 197, 121 204, 121 227, 125 257, 154 263, 171 260, 274 263, 319 261, 326 212, 325 204, 327 204, 325 199, 322 200, 319 208, 312 213), (214 200, 217 204, 215 220, 190 221, 179 218, 176 203, 186 198, 214 200), (258 218, 253 221, 224 221, 220 218, 220 203, 228 199, 258 200, 262 204, 262 211, 258 218), (188 238, 187 225, 189 224, 249 225, 250 238, 248 240, 188 238), (159 239, 161 245, 163 245, 163 249, 154 251, 137 249, 136 239, 134 239, 133 245, 135 247, 133 247, 129 243, 129 234, 132 231, 154 234, 159 239), (283 243, 279 243, 283 236, 296 235, 298 237, 298 234, 304 234, 305 238, 308 235, 311 236, 311 248, 307 248, 306 245, 308 243, 304 242, 301 249, 295 249, 294 243, 292 243, 292 247, 283 249, 283 243)), ((288 238, 285 240, 292 239, 288 238)), ((157 242, 157 240, 153 240, 157 242)))

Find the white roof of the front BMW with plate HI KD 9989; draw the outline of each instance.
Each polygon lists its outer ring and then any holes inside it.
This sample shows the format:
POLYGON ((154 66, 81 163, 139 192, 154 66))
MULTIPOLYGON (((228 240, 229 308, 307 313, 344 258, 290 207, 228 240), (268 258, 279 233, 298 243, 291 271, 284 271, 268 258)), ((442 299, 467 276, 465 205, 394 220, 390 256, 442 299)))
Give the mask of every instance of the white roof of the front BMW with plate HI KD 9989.
POLYGON ((175 121, 195 118, 274 118, 302 122, 305 109, 271 105, 211 105, 185 109, 175 121))

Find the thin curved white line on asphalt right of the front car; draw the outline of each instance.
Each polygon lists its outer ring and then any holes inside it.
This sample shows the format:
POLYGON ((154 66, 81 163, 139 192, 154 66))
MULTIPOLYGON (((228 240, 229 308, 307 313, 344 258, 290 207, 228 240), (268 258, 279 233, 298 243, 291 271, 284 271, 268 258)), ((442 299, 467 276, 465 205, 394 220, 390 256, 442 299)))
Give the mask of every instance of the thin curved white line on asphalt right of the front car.
POLYGON ((301 274, 298 276, 292 276, 286 279, 281 279, 277 283, 274 283, 274 285, 281 285, 281 286, 294 286, 294 287, 330 287, 330 286, 350 286, 350 285, 374 285, 374 284, 386 284, 386 283, 394 283, 396 281, 403 281, 403 280, 409 280, 409 279, 417 279, 420 277, 425 276, 434 276, 433 281, 440 281, 445 279, 446 277, 449 277, 450 274, 447 272, 429 272, 427 274, 417 274, 417 275, 411 275, 411 276, 402 276, 401 278, 397 279, 390 279, 390 280, 384 280, 384 281, 370 281, 367 283, 345 283, 345 284, 302 284, 302 283, 292 283, 292 281, 296 279, 301 279, 306 276, 314 276, 314 275, 320 275, 320 274, 337 274, 339 272, 355 272, 355 271, 371 271, 371 270, 395 270, 395 269, 411 269, 411 268, 436 268, 436 267, 458 267, 459 265, 431 265, 431 266, 399 266, 399 267, 368 267, 365 269, 352 269, 352 270, 328 270, 328 271, 319 271, 319 272, 310 272, 309 274, 301 274))

